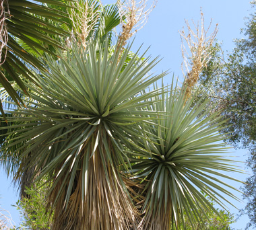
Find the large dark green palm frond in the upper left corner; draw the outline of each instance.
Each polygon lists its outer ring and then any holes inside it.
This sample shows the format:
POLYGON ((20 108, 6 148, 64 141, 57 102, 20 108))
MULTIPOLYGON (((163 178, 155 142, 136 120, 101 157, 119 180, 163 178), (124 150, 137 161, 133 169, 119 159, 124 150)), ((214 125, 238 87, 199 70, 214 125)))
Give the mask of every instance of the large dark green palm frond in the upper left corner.
MULTIPOLYGON (((44 0, 40 2, 64 6, 64 3, 59 0, 44 0)), ((47 7, 47 5, 27 0, 5 0, 3 1, 2 10, 5 20, 2 21, 3 25, 1 26, 4 26, 7 30, 7 46, 4 46, 3 50, 1 50, 0 83, 5 87, 13 101, 19 104, 22 103, 22 100, 11 87, 10 81, 18 83, 20 88, 25 93, 28 93, 20 75, 28 79, 28 81, 32 81, 28 65, 36 69, 43 69, 42 63, 32 56, 28 50, 25 50, 24 47, 27 46, 35 52, 39 52, 39 50, 49 52, 45 48, 46 45, 60 47, 61 44, 49 35, 62 36, 67 32, 60 28, 55 28, 53 24, 47 23, 43 18, 46 17, 55 22, 61 22, 61 18, 66 16, 63 11, 57 11, 47 7), (20 46, 17 39, 21 40, 26 46, 20 46)), ((2 106, 0 110, 4 114, 2 106)))

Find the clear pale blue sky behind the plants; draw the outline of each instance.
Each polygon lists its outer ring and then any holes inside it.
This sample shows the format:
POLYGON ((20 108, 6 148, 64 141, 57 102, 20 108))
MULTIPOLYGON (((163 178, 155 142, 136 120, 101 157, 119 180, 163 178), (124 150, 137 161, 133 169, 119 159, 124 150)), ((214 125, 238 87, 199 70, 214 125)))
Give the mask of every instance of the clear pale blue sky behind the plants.
MULTIPOLYGON (((115 1, 102 0, 103 4, 114 3, 115 1)), ((149 0, 149 3, 151 1, 149 0)), ((242 38, 241 28, 244 28, 244 18, 249 16, 251 5, 249 0, 158 0, 155 9, 150 13, 148 24, 136 34, 133 50, 136 50, 142 43, 143 48, 150 46, 148 54, 152 57, 160 55, 162 61, 155 67, 154 71, 160 73, 170 70, 170 74, 166 77, 166 82, 170 83, 172 74, 182 78, 181 63, 183 61, 181 55, 181 38, 179 30, 185 26, 185 19, 200 20, 200 9, 202 8, 205 17, 205 26, 208 26, 212 19, 212 25, 218 23, 219 32, 217 39, 222 41, 224 51, 232 51, 234 48, 233 40, 242 38)), ((234 149, 230 150, 229 155, 236 155, 236 160, 245 161, 247 151, 234 149)), ((239 166, 244 169, 245 164, 240 163, 239 166)), ((245 180, 247 175, 234 175, 239 180, 245 180)), ((18 223, 18 211, 11 207, 18 199, 17 188, 13 188, 11 180, 6 180, 6 174, 3 169, 0 171, 0 204, 2 208, 9 210, 13 221, 18 223)), ((239 188, 240 184, 234 184, 239 188)), ((236 194, 240 196, 240 194, 236 194)), ((241 197, 241 196, 240 196, 241 197)), ((245 203, 234 203, 238 208, 243 208, 245 203)), ((230 208, 231 213, 238 213, 235 208, 230 208)), ((246 216, 241 217, 236 224, 232 225, 235 229, 244 229, 248 222, 246 216)))

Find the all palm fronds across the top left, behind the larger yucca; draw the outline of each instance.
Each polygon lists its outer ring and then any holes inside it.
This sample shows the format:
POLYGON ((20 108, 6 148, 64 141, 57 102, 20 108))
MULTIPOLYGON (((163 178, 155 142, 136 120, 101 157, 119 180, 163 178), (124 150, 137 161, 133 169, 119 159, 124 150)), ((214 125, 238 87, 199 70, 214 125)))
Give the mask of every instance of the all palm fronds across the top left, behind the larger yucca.
MULTIPOLYGON (((70 1, 1 1, 0 83, 16 104, 23 102, 11 83, 15 81, 28 94, 22 79, 33 81, 31 69, 44 69, 40 59, 44 52, 56 55, 55 48, 64 48, 67 40, 73 39, 73 36, 75 39, 77 36, 82 38, 84 28, 88 34, 82 40, 92 36, 106 40, 120 23, 119 10, 115 4, 103 7, 97 0, 70 1), (83 11, 85 5, 89 11, 83 11), (90 20, 85 25, 86 18, 90 20)), ((0 111, 5 114, 1 102, 0 111)))

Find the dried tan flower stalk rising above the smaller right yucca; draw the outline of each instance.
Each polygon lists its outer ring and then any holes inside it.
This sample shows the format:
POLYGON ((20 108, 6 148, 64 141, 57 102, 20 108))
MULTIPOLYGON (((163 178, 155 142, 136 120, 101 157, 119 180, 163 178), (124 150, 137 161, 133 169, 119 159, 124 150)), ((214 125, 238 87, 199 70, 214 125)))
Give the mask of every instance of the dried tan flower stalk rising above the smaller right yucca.
MULTIPOLYGON (((193 22, 193 21, 192 21, 193 22)), ((182 71, 185 77, 185 84, 187 86, 185 97, 189 98, 191 95, 191 89, 197 83, 199 75, 203 67, 207 66, 207 63, 211 59, 212 44, 218 33, 218 24, 214 28, 214 32, 207 36, 210 27, 212 26, 212 20, 210 26, 205 30, 203 12, 201 11, 201 26, 199 23, 193 22, 194 28, 191 28, 189 22, 185 20, 188 34, 185 33, 184 28, 180 32, 181 34, 181 50, 183 55, 182 71), (195 32, 194 30, 195 29, 195 32), (185 65, 185 71, 183 69, 185 65)))

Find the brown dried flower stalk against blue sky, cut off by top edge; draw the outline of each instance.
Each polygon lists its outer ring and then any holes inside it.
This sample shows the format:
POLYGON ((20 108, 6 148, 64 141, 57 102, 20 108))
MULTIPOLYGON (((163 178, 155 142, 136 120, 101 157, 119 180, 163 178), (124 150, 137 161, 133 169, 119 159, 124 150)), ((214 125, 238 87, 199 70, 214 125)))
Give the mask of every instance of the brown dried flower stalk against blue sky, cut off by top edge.
POLYGON ((150 7, 148 7, 147 2, 148 0, 140 0, 138 2, 126 0, 124 3, 120 0, 117 1, 121 18, 121 35, 117 44, 118 48, 123 48, 127 44, 127 40, 148 22, 148 15, 156 7, 157 1, 154 1, 150 7))

